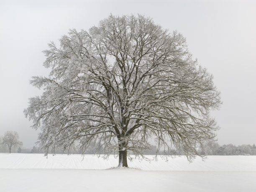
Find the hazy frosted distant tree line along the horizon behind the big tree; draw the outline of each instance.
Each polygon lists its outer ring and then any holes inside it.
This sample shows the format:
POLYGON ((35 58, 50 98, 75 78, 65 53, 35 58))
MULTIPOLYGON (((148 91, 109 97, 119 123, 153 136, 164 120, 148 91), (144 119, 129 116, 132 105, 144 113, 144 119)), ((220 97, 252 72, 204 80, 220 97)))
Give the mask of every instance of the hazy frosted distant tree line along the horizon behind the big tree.
MULTIPOLYGON (((33 146, 33 148, 24 148, 23 143, 19 141, 18 133, 15 131, 7 131, 4 136, 0 136, 0 153, 31 153, 40 154, 45 153, 38 146, 33 146)), ((100 146, 99 143, 92 142, 82 151, 80 148, 76 148, 75 145, 69 151, 70 154, 106 154, 105 148, 96 148, 95 146, 100 146)), ((64 148, 51 148, 50 153, 55 154, 66 154, 64 148)), ((166 151, 164 149, 158 148, 155 145, 151 145, 149 148, 141 151, 142 154, 147 155, 184 155, 182 149, 173 149, 166 151)), ((199 155, 256 155, 256 146, 253 145, 222 145, 220 146, 217 142, 203 143, 201 146, 197 146, 197 153, 199 155)), ((133 154, 129 151, 129 154, 133 154)))

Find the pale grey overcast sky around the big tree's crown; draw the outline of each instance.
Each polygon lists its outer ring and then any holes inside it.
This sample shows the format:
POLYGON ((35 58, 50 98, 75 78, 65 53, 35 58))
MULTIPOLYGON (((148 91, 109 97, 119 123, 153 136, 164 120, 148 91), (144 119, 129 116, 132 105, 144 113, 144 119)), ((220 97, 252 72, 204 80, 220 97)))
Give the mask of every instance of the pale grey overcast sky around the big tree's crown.
POLYGON ((256 143, 256 1, 199 0, 0 0, 0 136, 17 131, 33 147, 35 131, 23 115, 28 98, 40 95, 29 84, 47 76, 44 54, 50 41, 69 28, 88 30, 113 15, 143 14, 187 38, 190 52, 214 75, 223 101, 212 112, 220 144, 256 143))

